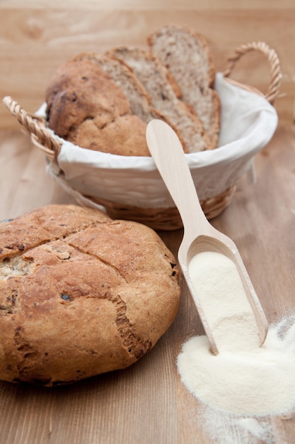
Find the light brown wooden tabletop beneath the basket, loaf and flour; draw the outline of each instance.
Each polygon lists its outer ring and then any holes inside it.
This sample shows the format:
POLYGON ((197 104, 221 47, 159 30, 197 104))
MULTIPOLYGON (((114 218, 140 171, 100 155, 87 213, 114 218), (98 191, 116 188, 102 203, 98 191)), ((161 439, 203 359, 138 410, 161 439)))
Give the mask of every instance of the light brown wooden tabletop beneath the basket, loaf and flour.
MULTIPOLYGON (((45 174, 42 153, 21 131, 0 133, 0 165, 0 219, 73 203, 45 174)), ((295 314, 294 165, 295 129, 280 126, 255 157, 257 182, 242 180, 229 209, 212 221, 236 242, 270 323, 295 314)), ((176 255, 182 231, 159 234, 176 255)), ((295 443, 295 415, 262 418, 269 440, 260 440, 238 418, 187 392, 175 360, 184 341, 203 331, 182 287, 173 325, 127 370, 53 389, 0 382, 0 443, 295 443)))

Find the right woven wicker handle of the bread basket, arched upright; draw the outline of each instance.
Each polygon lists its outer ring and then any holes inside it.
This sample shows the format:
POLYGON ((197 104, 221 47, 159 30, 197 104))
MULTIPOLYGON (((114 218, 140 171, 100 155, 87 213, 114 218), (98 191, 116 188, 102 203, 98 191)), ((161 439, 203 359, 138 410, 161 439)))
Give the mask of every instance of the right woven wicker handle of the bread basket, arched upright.
POLYGON ((271 49, 264 42, 252 42, 246 43, 245 45, 241 45, 239 48, 236 48, 235 52, 228 58, 226 62, 226 68, 224 70, 224 77, 229 77, 233 67, 236 65, 236 62, 244 55, 246 52, 250 52, 253 50, 257 50, 262 52, 266 57, 267 61, 270 65, 270 85, 268 87, 267 93, 265 94, 265 99, 270 102, 270 104, 274 103, 274 99, 277 97, 279 93, 279 86, 281 84, 282 72, 279 65, 279 57, 277 56, 277 52, 271 49))

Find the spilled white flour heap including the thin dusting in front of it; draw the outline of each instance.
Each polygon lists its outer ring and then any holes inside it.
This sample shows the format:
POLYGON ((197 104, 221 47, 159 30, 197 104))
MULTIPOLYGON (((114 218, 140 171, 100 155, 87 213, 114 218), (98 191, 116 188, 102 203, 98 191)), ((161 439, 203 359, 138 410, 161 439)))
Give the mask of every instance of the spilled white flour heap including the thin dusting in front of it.
POLYGON ((295 316, 270 326, 258 350, 212 355, 206 336, 178 355, 185 387, 202 401, 203 421, 218 444, 277 442, 272 416, 295 411, 295 316))

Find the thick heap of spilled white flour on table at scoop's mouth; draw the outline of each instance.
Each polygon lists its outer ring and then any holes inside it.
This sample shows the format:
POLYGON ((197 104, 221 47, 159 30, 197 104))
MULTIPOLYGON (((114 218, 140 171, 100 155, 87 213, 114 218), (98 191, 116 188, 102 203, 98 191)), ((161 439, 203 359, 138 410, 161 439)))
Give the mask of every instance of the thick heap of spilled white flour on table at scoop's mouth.
POLYGON ((287 414, 295 408, 295 319, 271 326, 261 348, 212 355, 206 336, 178 355, 183 384, 200 401, 233 414, 287 414), (290 321, 289 321, 290 322, 290 321))

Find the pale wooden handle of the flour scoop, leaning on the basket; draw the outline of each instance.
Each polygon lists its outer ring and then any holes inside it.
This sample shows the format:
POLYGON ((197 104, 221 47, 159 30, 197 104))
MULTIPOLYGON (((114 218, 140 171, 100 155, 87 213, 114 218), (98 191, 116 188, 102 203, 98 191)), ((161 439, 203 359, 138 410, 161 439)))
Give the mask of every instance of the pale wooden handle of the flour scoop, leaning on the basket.
MULTIPOLYGON (((209 222, 199 204, 178 135, 166 122, 154 119, 147 125, 146 142, 163 182, 178 208, 186 236, 193 239, 198 234, 209 234, 209 222)), ((189 239, 187 241, 189 242, 189 239)))

